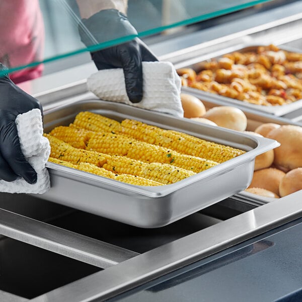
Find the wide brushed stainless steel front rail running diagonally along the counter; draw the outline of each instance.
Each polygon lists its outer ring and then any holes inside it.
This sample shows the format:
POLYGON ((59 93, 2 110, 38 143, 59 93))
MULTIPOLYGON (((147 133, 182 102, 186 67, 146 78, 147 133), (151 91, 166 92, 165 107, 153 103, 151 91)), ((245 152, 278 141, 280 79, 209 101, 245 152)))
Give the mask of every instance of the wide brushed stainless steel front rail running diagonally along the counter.
POLYGON ((302 215, 293 193, 200 232, 129 259, 32 299, 32 302, 103 301, 184 265, 276 228, 302 215))

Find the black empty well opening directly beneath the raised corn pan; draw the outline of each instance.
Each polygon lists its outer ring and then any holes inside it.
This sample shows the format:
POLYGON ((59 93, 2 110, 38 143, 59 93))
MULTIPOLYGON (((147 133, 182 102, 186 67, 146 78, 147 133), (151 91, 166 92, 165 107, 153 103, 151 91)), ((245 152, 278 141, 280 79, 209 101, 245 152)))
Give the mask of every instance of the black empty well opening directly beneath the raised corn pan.
POLYGON ((49 223, 142 254, 221 222, 215 214, 197 212, 156 229, 137 228, 84 211, 74 211, 49 223))

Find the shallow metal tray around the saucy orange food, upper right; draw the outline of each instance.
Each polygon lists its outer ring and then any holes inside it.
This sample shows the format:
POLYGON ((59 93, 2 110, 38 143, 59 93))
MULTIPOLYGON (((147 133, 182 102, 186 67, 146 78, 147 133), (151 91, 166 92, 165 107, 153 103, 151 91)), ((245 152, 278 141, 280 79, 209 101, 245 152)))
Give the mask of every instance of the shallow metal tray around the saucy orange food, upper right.
MULTIPOLYGON (((239 51, 239 52, 248 52, 248 51, 255 51, 257 49, 257 47, 259 46, 263 46, 263 45, 245 45, 242 46, 238 45, 238 46, 234 46, 234 47, 230 47, 227 50, 221 50, 221 51, 217 51, 215 52, 215 54, 208 54, 208 55, 203 55, 202 57, 196 57, 193 59, 190 59, 190 62, 186 61, 186 62, 180 62, 177 64, 177 68, 193 68, 194 70, 197 68, 198 63, 201 63, 202 61, 206 61, 206 60, 210 60, 210 59, 217 59, 220 58, 222 55, 224 54, 228 54, 234 51, 239 51)), ((279 47, 280 50, 286 50, 286 51, 292 51, 291 48, 289 47, 279 47)), ((296 50, 294 50, 296 52, 296 50)), ((232 98, 228 98, 228 97, 224 97, 224 96, 220 96, 220 95, 216 95, 213 93, 209 93, 209 92, 205 92, 205 91, 201 91, 198 90, 196 88, 191 88, 191 87, 182 87, 182 91, 184 93, 190 93, 190 92, 194 92, 195 94, 198 94, 198 97, 202 100, 206 100, 206 101, 218 101, 218 102, 222 102, 225 105, 234 105, 236 107, 241 107, 241 108, 250 108, 256 111, 260 111, 260 112, 266 112, 266 113, 270 113, 276 116, 282 116, 286 113, 290 113, 293 112, 296 109, 302 108, 302 100, 298 100, 295 101, 294 103, 291 104, 286 104, 286 105, 279 105, 279 106, 263 106, 263 105, 257 105, 257 104, 251 104, 248 102, 243 102, 240 100, 236 100, 236 99, 232 99, 232 98)))

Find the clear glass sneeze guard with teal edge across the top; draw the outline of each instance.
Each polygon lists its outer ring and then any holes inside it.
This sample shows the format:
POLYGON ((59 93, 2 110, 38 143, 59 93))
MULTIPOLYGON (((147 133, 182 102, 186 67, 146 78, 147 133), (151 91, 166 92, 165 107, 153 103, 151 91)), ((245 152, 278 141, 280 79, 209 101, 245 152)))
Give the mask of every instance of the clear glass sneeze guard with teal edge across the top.
MULTIPOLYGON (((7 62, 5 46, 0 47, 0 62, 3 62, 8 67, 7 70, 0 70, 0 75, 16 72, 25 68, 32 68, 41 63, 73 56, 85 51, 96 51, 122 44, 132 40, 136 36, 146 37, 160 34, 169 29, 190 25, 273 1, 274 0, 211 0, 205 2, 200 0, 129 0, 127 16, 137 30, 137 35, 120 36, 101 43, 98 43, 96 39, 91 39, 94 42, 89 46, 85 46, 84 43, 81 42, 79 28, 82 28, 85 34, 90 36, 90 38, 92 34, 81 21, 75 0, 39 0, 40 8, 38 7, 38 9, 42 12, 42 22, 44 23, 45 32, 43 54, 40 57, 34 55, 27 61, 15 60, 15 62, 7 62)), ((0 16, 2 14, 10 15, 10 12, 5 11, 7 9, 5 3, 6 0, 0 0, 0 16)), ((31 2, 25 2, 25 4, 28 3, 31 2)), ((28 10, 25 11, 30 14, 30 9, 31 8, 28 8, 28 10)), ((18 20, 22 21, 23 19, 18 20)), ((7 27, 9 26, 10 24, 7 25, 7 27)), ((0 33, 0 42, 2 39, 5 39, 5 37, 1 37, 0 33)), ((1 45, 4 44, 5 43, 1 43, 1 45)), ((18 46, 17 44, 16 47, 20 48, 22 45, 18 46)), ((22 53, 22 48, 20 48, 20 53, 22 53)))

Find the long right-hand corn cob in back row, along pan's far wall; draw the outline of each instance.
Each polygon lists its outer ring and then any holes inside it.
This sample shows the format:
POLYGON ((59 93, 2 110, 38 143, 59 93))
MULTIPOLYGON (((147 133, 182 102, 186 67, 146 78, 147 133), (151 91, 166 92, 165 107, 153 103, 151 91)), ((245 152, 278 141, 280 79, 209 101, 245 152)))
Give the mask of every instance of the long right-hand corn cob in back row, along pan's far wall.
POLYGON ((178 131, 164 130, 135 120, 125 119, 121 124, 123 135, 217 163, 223 163, 245 153, 231 146, 224 146, 178 131))

